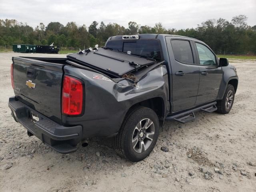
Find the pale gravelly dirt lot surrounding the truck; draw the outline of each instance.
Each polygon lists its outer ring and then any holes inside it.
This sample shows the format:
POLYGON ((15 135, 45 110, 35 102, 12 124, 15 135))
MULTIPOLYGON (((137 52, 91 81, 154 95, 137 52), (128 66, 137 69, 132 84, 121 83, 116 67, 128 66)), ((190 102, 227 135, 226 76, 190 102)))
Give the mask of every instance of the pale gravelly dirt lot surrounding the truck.
POLYGON ((8 108, 11 57, 22 55, 65 57, 0 53, 1 192, 256 191, 256 60, 230 60, 240 81, 229 114, 197 112, 187 124, 166 122, 152 154, 132 163, 116 155, 109 138, 62 155, 28 137, 8 108))

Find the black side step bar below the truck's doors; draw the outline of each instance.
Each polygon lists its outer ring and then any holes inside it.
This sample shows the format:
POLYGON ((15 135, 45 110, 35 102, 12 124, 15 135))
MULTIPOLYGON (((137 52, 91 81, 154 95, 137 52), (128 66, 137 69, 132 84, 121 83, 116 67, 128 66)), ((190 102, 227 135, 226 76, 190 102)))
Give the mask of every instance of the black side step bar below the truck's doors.
POLYGON ((194 114, 194 112, 196 112, 196 111, 202 110, 202 111, 208 112, 208 113, 216 111, 217 110, 216 104, 217 104, 217 102, 212 102, 212 103, 209 103, 209 104, 206 104, 206 105, 194 108, 194 109, 187 110, 187 111, 179 113, 179 114, 167 116, 165 118, 165 120, 175 120, 180 123, 186 123, 186 122, 191 121, 196 118, 196 116, 194 114))

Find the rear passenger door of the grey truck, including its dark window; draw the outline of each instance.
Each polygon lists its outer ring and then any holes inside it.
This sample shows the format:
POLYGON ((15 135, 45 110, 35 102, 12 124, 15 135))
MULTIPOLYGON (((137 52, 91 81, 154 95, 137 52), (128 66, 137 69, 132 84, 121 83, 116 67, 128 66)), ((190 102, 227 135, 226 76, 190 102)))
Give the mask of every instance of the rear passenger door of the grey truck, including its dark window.
POLYGON ((190 108, 196 103, 199 86, 199 66, 192 41, 174 36, 166 37, 172 68, 172 112, 190 108))

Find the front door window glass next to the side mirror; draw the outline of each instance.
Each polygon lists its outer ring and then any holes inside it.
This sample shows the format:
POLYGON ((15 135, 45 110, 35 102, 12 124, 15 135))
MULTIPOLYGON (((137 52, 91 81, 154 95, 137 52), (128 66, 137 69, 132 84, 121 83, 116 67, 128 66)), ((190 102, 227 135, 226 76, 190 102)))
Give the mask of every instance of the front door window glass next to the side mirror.
POLYGON ((216 65, 214 54, 206 46, 196 43, 196 48, 201 65, 216 65))

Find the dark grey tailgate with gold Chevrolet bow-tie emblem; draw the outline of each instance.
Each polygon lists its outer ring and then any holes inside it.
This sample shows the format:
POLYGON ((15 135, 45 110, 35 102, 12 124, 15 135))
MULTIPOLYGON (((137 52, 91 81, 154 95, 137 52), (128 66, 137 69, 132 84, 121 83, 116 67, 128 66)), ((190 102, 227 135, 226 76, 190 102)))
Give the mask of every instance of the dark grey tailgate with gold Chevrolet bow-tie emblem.
POLYGON ((16 98, 61 123, 62 68, 64 64, 13 57, 16 98))

